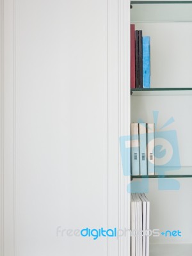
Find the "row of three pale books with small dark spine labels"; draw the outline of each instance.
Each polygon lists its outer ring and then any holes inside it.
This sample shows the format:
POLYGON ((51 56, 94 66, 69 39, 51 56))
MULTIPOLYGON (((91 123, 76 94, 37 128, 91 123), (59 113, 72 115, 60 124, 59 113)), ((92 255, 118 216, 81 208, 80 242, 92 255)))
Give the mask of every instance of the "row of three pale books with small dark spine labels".
POLYGON ((154 124, 131 123, 131 175, 155 174, 154 124))

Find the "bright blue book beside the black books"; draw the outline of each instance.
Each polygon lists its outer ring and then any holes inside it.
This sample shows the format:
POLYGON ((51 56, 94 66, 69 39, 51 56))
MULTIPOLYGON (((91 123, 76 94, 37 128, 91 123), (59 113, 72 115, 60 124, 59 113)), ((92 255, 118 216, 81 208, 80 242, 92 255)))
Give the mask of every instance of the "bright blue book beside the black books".
POLYGON ((143 88, 150 88, 150 36, 143 36, 143 88))

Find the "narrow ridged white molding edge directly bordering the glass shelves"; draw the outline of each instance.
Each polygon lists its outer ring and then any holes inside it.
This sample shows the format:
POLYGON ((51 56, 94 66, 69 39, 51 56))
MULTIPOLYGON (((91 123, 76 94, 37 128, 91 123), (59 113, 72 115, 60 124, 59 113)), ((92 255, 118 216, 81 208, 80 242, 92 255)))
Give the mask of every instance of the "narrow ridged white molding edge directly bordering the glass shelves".
MULTIPOLYGON (((129 61, 129 0, 118 0, 118 106, 119 106, 119 137, 129 135, 130 127, 130 61, 129 61)), ((120 237, 119 255, 130 255, 130 195, 127 193, 127 184, 130 177, 124 176, 119 156, 119 228, 124 230, 120 237), (126 236, 125 236, 126 234, 126 236)), ((130 161, 130 159, 126 159, 130 161)))

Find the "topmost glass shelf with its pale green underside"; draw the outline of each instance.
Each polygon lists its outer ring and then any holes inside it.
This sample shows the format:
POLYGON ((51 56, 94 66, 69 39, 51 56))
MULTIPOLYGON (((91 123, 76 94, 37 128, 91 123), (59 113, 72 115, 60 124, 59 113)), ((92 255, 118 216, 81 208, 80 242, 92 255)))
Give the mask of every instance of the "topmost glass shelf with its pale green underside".
POLYGON ((192 22, 192 1, 131 1, 131 22, 192 22))

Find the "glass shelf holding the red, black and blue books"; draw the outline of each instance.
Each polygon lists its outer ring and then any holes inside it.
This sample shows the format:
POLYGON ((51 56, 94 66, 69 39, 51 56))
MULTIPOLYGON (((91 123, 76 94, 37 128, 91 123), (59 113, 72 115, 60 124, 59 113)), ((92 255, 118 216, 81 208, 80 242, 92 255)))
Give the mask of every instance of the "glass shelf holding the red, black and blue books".
POLYGON ((192 88, 135 88, 131 89, 132 96, 154 95, 192 95, 192 88))

